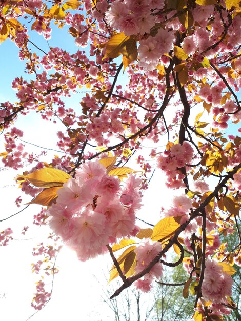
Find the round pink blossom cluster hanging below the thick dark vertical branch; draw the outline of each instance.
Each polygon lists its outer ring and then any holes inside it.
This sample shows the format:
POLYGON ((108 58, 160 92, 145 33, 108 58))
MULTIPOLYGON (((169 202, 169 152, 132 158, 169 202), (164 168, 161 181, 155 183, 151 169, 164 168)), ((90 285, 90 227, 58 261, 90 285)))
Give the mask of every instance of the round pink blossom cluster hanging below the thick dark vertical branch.
POLYGON ((192 163, 193 153, 193 148, 185 141, 182 145, 173 145, 169 150, 159 155, 157 167, 165 172, 166 185, 169 188, 177 189, 185 186, 184 175, 180 173, 179 169, 192 163))

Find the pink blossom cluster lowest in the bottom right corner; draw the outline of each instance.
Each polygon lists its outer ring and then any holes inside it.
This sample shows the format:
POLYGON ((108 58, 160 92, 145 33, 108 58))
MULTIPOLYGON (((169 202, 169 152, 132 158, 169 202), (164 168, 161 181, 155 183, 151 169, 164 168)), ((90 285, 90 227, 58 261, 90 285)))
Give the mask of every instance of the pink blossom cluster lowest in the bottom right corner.
POLYGON ((206 301, 224 303, 226 296, 232 294, 232 277, 227 274, 217 261, 211 258, 206 260, 202 294, 206 301))

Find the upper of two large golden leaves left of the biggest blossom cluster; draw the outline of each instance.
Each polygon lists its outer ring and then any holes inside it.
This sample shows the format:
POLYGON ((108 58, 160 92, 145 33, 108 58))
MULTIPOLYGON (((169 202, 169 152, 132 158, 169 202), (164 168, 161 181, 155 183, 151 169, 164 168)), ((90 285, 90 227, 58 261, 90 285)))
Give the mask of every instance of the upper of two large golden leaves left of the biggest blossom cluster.
POLYGON ((71 178, 69 174, 54 168, 42 168, 29 175, 19 175, 18 177, 28 180, 36 187, 44 188, 61 186, 71 178))

